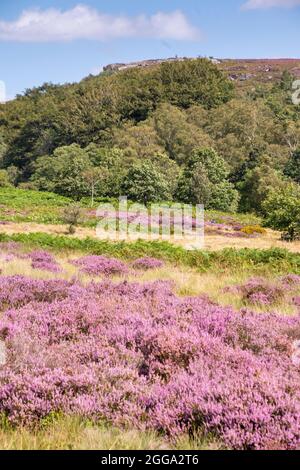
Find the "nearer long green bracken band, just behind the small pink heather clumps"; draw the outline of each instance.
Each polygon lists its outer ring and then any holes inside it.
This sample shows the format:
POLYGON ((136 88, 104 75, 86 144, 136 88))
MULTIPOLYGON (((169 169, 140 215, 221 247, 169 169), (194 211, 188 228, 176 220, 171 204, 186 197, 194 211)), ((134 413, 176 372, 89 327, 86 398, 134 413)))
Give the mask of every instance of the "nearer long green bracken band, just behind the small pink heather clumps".
POLYGON ((1 241, 16 241, 27 246, 52 249, 56 251, 77 251, 90 254, 104 254, 125 260, 141 256, 154 256, 165 261, 196 268, 199 271, 228 272, 234 269, 259 273, 297 273, 300 274, 300 253, 285 249, 268 250, 226 248, 221 251, 190 250, 168 242, 147 242, 138 240, 133 243, 96 240, 94 238, 70 238, 46 233, 0 234, 1 241))

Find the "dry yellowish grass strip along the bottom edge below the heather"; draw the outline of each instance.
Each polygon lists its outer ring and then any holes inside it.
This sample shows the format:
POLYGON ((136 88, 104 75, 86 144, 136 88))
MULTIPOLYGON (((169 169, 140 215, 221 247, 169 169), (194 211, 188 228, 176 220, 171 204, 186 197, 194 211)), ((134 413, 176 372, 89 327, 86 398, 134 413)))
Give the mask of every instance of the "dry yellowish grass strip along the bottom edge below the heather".
POLYGON ((39 429, 0 426, 0 450, 219 450, 214 439, 183 436, 170 442, 154 432, 117 429, 61 417, 39 429))

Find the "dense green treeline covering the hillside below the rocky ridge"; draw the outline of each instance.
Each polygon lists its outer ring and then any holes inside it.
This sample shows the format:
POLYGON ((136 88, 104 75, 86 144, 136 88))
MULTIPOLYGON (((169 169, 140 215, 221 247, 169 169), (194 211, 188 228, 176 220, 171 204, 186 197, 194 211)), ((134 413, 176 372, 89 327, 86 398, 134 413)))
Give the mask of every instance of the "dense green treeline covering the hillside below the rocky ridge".
POLYGON ((0 108, 0 185, 264 213, 299 190, 292 80, 237 93, 199 59, 27 90, 0 108))

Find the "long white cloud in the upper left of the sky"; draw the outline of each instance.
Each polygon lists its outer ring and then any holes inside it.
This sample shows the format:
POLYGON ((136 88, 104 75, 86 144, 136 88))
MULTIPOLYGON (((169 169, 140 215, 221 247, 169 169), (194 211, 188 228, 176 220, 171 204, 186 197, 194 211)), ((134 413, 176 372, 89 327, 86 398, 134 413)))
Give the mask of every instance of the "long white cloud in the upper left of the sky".
POLYGON ((148 37, 194 40, 199 30, 179 10, 152 16, 113 16, 86 5, 71 10, 25 10, 16 21, 0 19, 0 40, 20 42, 148 37))

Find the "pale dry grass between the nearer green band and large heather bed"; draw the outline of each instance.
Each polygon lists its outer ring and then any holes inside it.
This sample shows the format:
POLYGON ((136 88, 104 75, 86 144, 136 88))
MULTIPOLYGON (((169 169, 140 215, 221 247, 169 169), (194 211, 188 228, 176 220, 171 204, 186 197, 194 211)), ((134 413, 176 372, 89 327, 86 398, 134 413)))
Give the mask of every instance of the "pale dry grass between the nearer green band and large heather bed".
MULTIPOLYGON (((78 256, 79 255, 76 254, 57 255, 56 260, 62 268, 62 271, 59 273, 33 269, 28 259, 13 259, 7 262, 1 257, 0 269, 4 276, 20 274, 33 279, 65 279, 68 281, 77 279, 83 284, 91 282, 92 280, 100 281, 102 279, 100 276, 89 276, 81 273, 76 266, 70 263, 71 260, 78 256)), ((250 277, 256 277, 258 275, 268 279, 270 282, 276 281, 276 276, 270 275, 264 268, 255 273, 251 273, 248 270, 201 273, 193 268, 169 264, 166 264, 160 269, 139 272, 138 276, 136 273, 132 272, 132 274, 126 276, 126 279, 132 282, 171 281, 174 284, 174 292, 179 296, 205 295, 220 305, 232 306, 236 310, 248 306, 258 313, 277 312, 281 315, 296 314, 296 307, 284 297, 277 304, 271 306, 247 305, 243 302, 240 294, 224 291, 225 287, 244 284, 250 277)), ((116 282, 122 281, 123 279, 124 276, 113 277, 113 280, 116 282)), ((295 292, 296 295, 300 295, 300 289, 298 291, 299 292, 295 292)))

